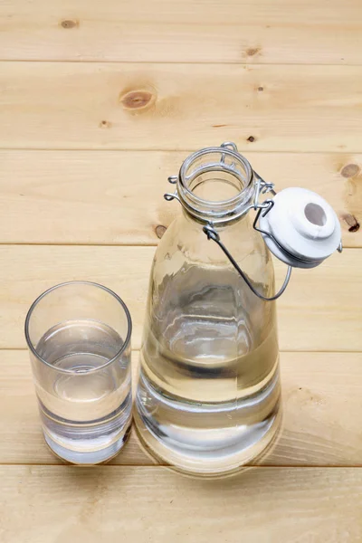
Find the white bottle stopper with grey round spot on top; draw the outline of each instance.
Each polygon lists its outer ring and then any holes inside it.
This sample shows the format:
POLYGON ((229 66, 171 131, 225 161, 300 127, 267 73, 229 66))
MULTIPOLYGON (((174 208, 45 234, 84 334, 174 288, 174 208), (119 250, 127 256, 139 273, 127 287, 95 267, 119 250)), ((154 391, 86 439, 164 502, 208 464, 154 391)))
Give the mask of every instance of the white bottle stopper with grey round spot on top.
POLYGON ((340 243, 340 224, 332 207, 306 188, 291 187, 273 198, 274 205, 260 227, 265 243, 282 262, 297 268, 314 268, 335 252, 340 243), (303 262, 301 262, 303 261, 303 262))

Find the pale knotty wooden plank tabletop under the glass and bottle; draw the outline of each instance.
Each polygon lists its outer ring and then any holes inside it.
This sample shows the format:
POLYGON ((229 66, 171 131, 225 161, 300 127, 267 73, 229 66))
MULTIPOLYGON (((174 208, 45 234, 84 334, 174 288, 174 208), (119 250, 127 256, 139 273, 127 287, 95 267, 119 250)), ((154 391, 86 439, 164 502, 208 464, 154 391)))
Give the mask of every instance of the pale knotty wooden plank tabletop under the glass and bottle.
MULTIPOLYGON (((1 543, 362 541, 360 0, 0 2, 1 543), (110 465, 43 443, 23 323, 51 285, 129 305, 189 151, 235 141, 335 207, 345 250, 278 302, 285 424, 262 466, 193 481, 130 442, 110 465)), ((277 281, 284 268, 277 264, 277 281)))

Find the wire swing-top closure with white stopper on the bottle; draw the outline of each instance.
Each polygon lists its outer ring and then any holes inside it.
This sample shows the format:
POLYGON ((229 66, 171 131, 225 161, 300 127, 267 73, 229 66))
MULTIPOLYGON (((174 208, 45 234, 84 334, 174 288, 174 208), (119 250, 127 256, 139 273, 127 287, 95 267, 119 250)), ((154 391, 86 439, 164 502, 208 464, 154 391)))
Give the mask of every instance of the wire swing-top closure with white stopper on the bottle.
MULTIPOLYGON (((230 166, 224 165, 225 156, 227 152, 235 154, 238 150, 236 145, 229 141, 224 142, 220 148, 212 148, 212 150, 221 151, 223 149, 225 153, 222 152, 221 161, 217 166, 230 170, 230 166)), ((342 252, 340 224, 331 206, 316 193, 305 188, 291 187, 277 194, 274 185, 265 182, 255 170, 252 171, 252 176, 255 181, 255 193, 253 202, 244 213, 251 209, 257 211, 252 224, 253 228, 262 233, 270 251, 281 262, 288 264, 280 290, 270 298, 257 291, 221 241, 220 235, 215 230, 217 224, 208 223, 203 231, 208 240, 219 245, 255 296, 266 301, 277 300, 288 286, 293 267, 314 268, 336 250, 342 252), (260 203, 259 196, 267 193, 271 193, 273 198, 260 203)), ((170 176, 168 181, 175 185, 177 178, 177 176, 170 176)), ((164 196, 167 201, 176 199, 180 202, 177 188, 174 193, 167 193, 164 196)))

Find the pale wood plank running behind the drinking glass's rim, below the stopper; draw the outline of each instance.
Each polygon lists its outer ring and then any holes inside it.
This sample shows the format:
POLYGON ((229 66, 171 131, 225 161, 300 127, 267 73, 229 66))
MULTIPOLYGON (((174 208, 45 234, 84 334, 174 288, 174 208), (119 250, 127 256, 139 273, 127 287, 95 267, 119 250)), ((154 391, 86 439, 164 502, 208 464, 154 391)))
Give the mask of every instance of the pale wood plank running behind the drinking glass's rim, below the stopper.
MULTIPOLYGON (((0 246, 0 348, 24 348, 31 302, 62 281, 109 286, 129 306, 138 348, 153 247, 0 246)), ((362 250, 346 249, 313 270, 295 270, 278 302, 283 350, 362 350, 362 250)), ((285 265, 275 262, 277 284, 285 265)))

